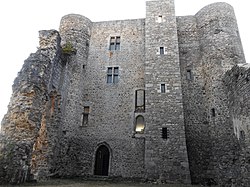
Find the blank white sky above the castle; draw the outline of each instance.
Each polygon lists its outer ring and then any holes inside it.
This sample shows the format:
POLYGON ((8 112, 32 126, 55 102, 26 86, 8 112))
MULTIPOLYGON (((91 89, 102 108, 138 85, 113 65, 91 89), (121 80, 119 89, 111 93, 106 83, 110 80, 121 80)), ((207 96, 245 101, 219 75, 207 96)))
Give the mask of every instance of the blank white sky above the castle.
MULTIPOLYGON (((69 13, 92 21, 145 18, 146 0, 1 0, 0 2, 0 122, 7 112, 11 86, 23 62, 38 47, 38 31, 58 30, 60 19, 69 13)), ((175 0, 176 15, 194 15, 216 0, 175 0)), ((246 60, 250 59, 247 0, 224 0, 236 13, 246 60)))

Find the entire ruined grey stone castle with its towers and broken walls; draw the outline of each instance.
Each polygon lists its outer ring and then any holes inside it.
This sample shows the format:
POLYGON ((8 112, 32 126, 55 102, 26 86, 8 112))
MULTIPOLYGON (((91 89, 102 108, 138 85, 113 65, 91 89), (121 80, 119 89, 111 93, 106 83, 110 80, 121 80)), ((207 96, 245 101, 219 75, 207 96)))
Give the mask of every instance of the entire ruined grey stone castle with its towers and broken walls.
POLYGON ((109 177, 250 186, 250 70, 233 8, 62 18, 13 84, 0 181, 109 177))

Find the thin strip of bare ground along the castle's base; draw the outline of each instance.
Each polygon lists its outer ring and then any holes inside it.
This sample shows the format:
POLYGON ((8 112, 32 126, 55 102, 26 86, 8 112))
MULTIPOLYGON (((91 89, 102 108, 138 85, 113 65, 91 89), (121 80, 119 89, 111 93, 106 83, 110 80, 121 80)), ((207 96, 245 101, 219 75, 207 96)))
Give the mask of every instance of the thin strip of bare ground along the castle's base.
MULTIPOLYGON (((50 180, 41 183, 26 183, 23 187, 199 187, 196 185, 183 184, 154 184, 154 183, 139 183, 139 182, 110 182, 110 181, 80 181, 80 180, 50 180)), ((18 186, 18 187, 21 187, 18 186)), ((7 187, 7 186, 6 186, 7 187)), ((12 186, 17 187, 17 186, 12 186)))

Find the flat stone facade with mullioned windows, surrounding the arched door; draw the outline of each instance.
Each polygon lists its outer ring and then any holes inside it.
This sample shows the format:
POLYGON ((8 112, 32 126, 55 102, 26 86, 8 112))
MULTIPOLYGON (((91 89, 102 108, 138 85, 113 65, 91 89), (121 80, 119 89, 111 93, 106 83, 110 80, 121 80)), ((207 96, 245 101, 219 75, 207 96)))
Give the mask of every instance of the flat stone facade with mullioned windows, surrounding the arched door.
MULTIPOLYGON (((62 21, 61 28, 64 25, 62 21)), ((69 60, 69 64, 81 65, 69 71, 69 76, 73 73, 76 77, 72 78, 72 91, 68 93, 77 97, 67 96, 72 105, 66 104, 65 109, 67 143, 62 152, 67 170, 63 175, 94 175, 96 150, 106 145, 111 152, 109 176, 143 177, 144 139, 132 136, 135 90, 144 88, 144 20, 93 23, 90 36, 88 61, 78 57, 69 60), (111 36, 121 37, 120 50, 109 50, 111 36), (117 84, 107 83, 108 67, 119 67, 117 84), (86 106, 90 112, 88 124, 83 126, 86 106)), ((64 37, 62 34, 62 40, 64 37)), ((77 53, 82 50, 77 48, 77 53)))

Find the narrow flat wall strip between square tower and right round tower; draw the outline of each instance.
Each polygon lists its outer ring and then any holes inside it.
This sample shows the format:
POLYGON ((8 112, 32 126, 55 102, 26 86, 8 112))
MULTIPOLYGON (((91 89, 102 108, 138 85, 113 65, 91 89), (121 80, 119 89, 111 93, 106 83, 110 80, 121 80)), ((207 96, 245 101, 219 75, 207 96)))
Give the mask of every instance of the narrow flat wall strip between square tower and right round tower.
POLYGON ((189 167, 192 182, 199 183, 211 157, 200 38, 195 16, 177 17, 177 26, 189 167))

